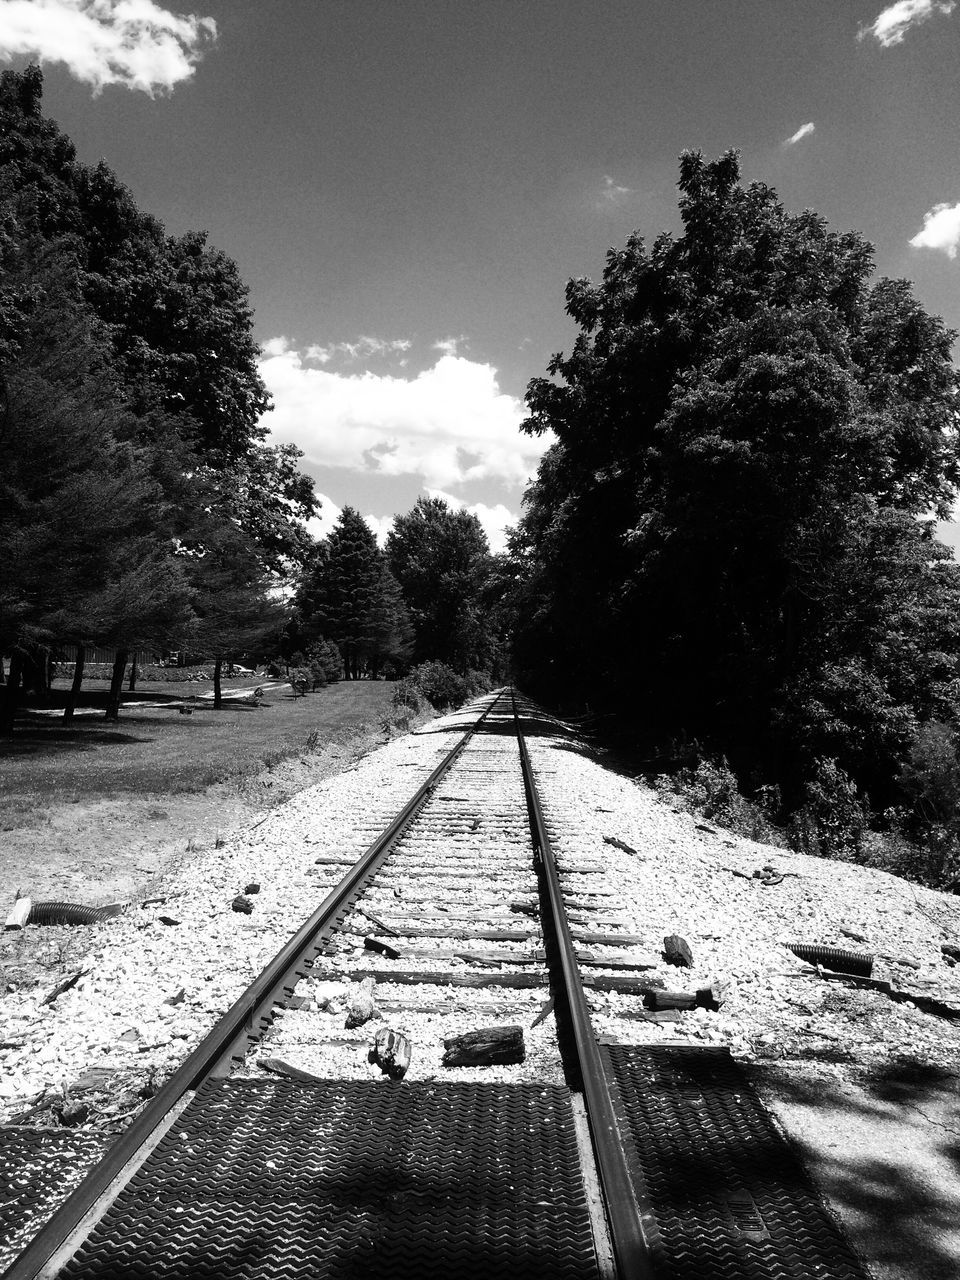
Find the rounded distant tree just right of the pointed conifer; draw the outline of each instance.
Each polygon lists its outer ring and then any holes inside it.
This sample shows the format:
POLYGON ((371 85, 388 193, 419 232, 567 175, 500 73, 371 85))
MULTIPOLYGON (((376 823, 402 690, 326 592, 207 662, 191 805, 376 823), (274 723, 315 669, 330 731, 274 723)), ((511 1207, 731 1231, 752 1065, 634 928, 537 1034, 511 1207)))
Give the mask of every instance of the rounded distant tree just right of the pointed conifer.
POLYGON ((490 548, 471 512, 420 498, 387 535, 387 562, 403 593, 416 636, 415 660, 456 671, 488 667, 494 649, 483 593, 490 548))

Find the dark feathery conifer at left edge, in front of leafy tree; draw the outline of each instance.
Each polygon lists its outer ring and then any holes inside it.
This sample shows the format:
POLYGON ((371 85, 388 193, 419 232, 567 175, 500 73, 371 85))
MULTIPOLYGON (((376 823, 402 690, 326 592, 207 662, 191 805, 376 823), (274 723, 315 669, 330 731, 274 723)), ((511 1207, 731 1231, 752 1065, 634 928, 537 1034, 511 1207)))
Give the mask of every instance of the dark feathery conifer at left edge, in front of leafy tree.
MULTIPOLYGON (((161 641, 189 617, 189 590, 165 495, 146 452, 128 443, 131 413, 69 256, 13 237, 3 265, 0 646, 13 653, 1 716, 9 732, 20 686, 46 691, 55 643, 161 641)), ((78 666, 82 677, 82 653, 78 666)), ((76 680, 68 718, 78 690, 76 680)), ((111 698, 108 714, 118 705, 111 698)))

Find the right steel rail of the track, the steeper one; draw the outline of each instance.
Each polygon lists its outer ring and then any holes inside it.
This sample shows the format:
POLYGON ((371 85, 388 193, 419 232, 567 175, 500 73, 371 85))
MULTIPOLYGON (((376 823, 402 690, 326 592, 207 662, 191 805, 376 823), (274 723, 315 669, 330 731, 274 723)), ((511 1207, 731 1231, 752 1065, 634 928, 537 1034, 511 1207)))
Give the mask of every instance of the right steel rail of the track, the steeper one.
POLYGON ((623 1152, 623 1142, 613 1110, 607 1074, 590 1021, 590 1010, 584 993, 576 947, 563 906, 557 859, 553 854, 550 837, 547 833, 547 823, 544 822, 540 796, 536 790, 536 781, 534 780, 530 753, 524 740, 520 716, 517 713, 517 700, 513 691, 511 691, 511 700, 513 704, 513 723, 520 746, 520 765, 524 773, 524 790, 530 814, 530 827, 547 888, 550 923, 557 940, 563 979, 562 995, 573 1032, 579 1074, 584 1087, 584 1106, 607 1210, 607 1224, 611 1233, 613 1256, 621 1280, 654 1280, 650 1251, 643 1229, 643 1215, 634 1193, 634 1184, 623 1152))

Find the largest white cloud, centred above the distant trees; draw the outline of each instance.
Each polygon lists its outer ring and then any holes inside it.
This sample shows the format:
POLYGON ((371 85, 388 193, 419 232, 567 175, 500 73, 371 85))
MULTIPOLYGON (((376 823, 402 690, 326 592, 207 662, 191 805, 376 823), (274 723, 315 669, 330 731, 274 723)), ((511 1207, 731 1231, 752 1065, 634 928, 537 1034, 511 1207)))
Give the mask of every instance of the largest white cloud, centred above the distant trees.
POLYGON ((521 488, 549 447, 521 435, 521 401, 500 392, 492 365, 442 355, 399 378, 311 369, 284 339, 264 347, 260 372, 274 399, 266 419, 276 442, 308 462, 385 476, 419 476, 426 488, 471 480, 521 488))

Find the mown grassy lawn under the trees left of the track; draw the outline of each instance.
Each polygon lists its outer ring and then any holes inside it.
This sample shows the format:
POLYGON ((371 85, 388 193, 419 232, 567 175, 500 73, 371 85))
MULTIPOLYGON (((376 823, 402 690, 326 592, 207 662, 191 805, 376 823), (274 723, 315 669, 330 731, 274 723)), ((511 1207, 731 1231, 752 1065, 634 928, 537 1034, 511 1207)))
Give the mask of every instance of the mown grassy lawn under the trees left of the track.
MULTIPOLYGON (((106 682, 91 681, 82 707, 105 705, 106 682)), ((251 690, 253 682, 225 681, 251 690)), ((191 716, 177 705, 202 695, 210 682, 142 682, 127 703, 164 701, 170 707, 124 705, 118 723, 78 714, 67 726, 58 716, 24 710, 12 739, 0 741, 0 828, 4 818, 31 804, 79 803, 128 794, 201 791, 212 782, 238 778, 278 763, 311 745, 348 736, 361 724, 378 726, 389 716, 393 685, 346 681, 294 699, 289 685, 268 689, 264 703, 196 704, 191 716)), ((67 682, 54 686, 52 704, 67 682)))

